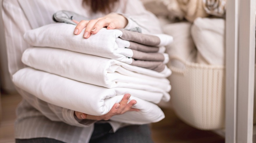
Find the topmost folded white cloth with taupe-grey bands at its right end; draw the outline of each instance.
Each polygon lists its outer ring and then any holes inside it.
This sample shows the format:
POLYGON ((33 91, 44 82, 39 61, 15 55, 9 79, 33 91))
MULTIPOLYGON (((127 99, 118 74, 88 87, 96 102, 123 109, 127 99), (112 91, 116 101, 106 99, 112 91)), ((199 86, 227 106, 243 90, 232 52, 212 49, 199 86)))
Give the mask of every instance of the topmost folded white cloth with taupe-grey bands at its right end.
POLYGON ((128 30, 102 28, 97 34, 84 40, 84 31, 75 36, 74 29, 75 25, 72 24, 48 24, 26 32, 24 38, 33 46, 61 48, 116 59, 158 72, 169 72, 165 66, 169 57, 163 53, 163 46, 172 42, 169 35, 146 35, 128 30))

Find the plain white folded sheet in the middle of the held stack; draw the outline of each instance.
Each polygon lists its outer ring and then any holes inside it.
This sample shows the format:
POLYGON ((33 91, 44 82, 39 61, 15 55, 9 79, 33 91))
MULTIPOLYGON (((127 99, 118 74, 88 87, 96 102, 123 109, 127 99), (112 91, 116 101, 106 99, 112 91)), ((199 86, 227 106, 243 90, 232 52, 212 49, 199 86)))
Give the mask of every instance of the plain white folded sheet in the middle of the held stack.
MULTIPOLYGON (((169 80, 130 71, 121 66, 125 63, 114 59, 56 48, 38 47, 25 50, 22 62, 38 70, 97 86, 126 87, 161 92, 165 95, 163 99, 169 100, 168 92, 171 89, 169 80)), ((135 70, 152 71, 132 65, 128 65, 127 68, 129 67, 133 67, 135 70)))

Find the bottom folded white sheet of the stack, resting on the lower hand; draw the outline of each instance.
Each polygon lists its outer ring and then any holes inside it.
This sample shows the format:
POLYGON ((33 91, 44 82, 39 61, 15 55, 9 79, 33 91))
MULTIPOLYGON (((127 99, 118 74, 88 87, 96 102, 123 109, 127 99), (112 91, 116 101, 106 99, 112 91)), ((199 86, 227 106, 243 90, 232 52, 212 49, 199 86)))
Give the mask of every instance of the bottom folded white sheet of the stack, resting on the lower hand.
POLYGON ((14 84, 38 97, 39 99, 90 115, 104 115, 110 111, 115 103, 119 103, 122 95, 130 93, 129 100, 135 99, 137 104, 133 107, 139 112, 127 112, 112 120, 145 124, 157 122, 164 118, 161 109, 154 103, 159 102, 161 95, 144 90, 129 88, 105 88, 85 84, 32 68, 24 68, 13 75, 14 84), (145 100, 143 100, 145 99, 145 100), (146 101, 148 100, 148 101, 146 101))

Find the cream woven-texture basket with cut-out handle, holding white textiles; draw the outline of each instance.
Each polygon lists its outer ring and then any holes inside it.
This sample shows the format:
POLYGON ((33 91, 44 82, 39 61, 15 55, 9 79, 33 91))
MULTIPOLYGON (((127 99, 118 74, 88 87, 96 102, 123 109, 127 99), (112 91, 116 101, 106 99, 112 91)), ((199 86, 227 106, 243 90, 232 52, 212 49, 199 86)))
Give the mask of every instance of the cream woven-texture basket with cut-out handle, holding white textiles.
MULTIPOLYGON (((225 68, 186 62, 185 68, 168 65, 172 89, 171 103, 177 116, 187 124, 201 130, 224 127, 225 122, 225 68)), ((254 108, 255 109, 255 108, 254 108)), ((255 111, 255 110, 254 110, 255 111)), ((254 118, 255 119, 255 118, 254 118)))

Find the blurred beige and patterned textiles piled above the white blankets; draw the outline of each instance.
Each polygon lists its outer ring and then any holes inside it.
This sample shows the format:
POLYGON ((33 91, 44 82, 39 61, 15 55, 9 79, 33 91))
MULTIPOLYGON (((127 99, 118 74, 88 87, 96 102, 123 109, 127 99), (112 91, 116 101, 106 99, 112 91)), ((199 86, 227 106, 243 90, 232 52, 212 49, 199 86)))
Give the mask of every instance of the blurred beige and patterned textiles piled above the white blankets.
POLYGON ((226 0, 141 0, 145 8, 155 15, 168 17, 172 22, 193 22, 197 17, 214 15, 224 17, 226 0))

